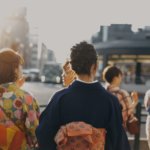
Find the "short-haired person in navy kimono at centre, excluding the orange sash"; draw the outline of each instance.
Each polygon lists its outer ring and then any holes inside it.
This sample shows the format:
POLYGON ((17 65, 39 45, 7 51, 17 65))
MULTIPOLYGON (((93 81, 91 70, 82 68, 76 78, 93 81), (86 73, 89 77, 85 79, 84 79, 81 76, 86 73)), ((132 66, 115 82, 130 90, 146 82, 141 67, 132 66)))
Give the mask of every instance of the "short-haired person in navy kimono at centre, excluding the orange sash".
MULTIPOLYGON (((94 80, 98 62, 93 45, 81 42, 73 46, 70 64, 76 73, 76 80, 69 87, 56 92, 40 116, 36 129, 40 150, 59 149, 57 135, 63 133, 61 129, 69 129, 69 135, 76 134, 68 126, 81 122, 82 126, 85 123, 94 129, 106 130, 105 150, 130 150, 117 98, 94 80)), ((67 137, 61 135, 60 139, 65 142, 61 147, 63 148, 67 145, 67 137)), ((69 146, 74 142, 70 142, 69 146)), ((78 145, 78 149, 82 148, 78 145)))

